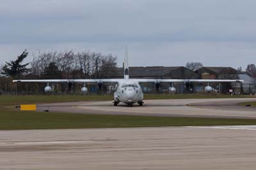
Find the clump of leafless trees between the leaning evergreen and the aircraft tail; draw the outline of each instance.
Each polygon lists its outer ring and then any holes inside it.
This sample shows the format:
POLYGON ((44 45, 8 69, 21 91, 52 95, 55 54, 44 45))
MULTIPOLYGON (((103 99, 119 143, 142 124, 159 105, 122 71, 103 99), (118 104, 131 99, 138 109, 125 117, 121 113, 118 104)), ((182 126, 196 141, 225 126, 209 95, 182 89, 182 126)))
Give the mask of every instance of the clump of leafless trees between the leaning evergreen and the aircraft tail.
POLYGON ((105 56, 100 52, 89 51, 38 52, 33 55, 30 78, 45 78, 45 70, 51 70, 49 67, 58 68, 61 79, 107 78, 116 72, 116 58, 111 54, 105 56))

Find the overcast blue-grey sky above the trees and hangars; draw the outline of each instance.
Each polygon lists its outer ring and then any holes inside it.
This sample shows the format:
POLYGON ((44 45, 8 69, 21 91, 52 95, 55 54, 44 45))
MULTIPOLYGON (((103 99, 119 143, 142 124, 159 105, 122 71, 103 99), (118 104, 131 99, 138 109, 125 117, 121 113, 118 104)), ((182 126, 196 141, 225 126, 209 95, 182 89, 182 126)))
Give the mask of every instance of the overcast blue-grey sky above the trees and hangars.
POLYGON ((28 49, 113 54, 130 66, 256 63, 255 0, 0 0, 0 65, 28 49))

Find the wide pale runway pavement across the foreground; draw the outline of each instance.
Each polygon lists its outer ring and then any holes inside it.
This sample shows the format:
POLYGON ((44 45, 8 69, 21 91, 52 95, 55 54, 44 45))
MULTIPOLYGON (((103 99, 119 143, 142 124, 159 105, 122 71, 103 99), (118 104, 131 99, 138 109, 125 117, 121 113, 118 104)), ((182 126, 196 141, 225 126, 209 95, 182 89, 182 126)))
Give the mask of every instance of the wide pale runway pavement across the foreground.
POLYGON ((0 131, 0 169, 255 169, 255 129, 0 131))

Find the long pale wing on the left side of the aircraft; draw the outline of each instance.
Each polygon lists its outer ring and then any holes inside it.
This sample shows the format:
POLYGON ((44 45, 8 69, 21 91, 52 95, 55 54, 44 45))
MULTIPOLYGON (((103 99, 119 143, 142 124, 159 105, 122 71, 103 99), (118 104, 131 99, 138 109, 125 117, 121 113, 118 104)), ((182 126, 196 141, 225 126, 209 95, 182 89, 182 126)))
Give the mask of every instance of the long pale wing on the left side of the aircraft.
POLYGON ((13 80, 13 82, 120 82, 124 79, 31 79, 31 80, 13 80))

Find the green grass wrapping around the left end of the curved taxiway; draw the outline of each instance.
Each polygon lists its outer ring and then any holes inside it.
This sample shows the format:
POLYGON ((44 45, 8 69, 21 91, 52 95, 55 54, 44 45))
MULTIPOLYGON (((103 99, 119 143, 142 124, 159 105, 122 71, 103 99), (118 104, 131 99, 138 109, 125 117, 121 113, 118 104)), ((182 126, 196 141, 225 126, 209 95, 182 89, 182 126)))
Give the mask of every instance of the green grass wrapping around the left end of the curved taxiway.
MULTIPOLYGON (((218 95, 218 98, 227 97, 230 96, 218 95)), ((0 96, 0 130, 51 128, 164 127, 204 125, 256 125, 256 120, 223 118, 163 118, 147 116, 111 116, 55 112, 29 112, 19 111, 14 109, 13 107, 14 105, 20 104, 75 102, 85 100, 112 100, 112 98, 112 95, 0 96)), ((146 100, 168 98, 216 98, 216 96, 145 95, 146 100)))

